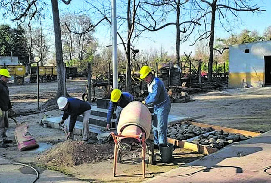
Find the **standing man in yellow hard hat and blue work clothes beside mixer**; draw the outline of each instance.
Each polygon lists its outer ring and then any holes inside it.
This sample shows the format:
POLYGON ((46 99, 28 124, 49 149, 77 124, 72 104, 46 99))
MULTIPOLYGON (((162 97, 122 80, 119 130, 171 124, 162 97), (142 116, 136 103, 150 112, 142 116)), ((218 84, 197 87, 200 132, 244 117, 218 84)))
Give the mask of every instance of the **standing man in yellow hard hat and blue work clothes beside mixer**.
POLYGON ((154 148, 158 148, 158 144, 167 143, 167 121, 171 108, 170 98, 167 95, 164 83, 152 74, 149 66, 143 66, 140 69, 140 79, 144 79, 148 83, 149 92, 142 103, 154 105, 153 141, 154 148))

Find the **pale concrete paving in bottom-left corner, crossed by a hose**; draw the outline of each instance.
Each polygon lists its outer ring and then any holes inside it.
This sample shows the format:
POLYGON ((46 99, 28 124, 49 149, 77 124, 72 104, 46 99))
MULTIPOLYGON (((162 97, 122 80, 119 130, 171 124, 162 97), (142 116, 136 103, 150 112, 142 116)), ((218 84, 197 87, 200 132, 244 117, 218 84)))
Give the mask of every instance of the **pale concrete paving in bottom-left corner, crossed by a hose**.
MULTIPOLYGON (((0 157, 0 163, 15 163, 0 157)), ((86 183, 75 178, 70 178, 59 172, 40 170, 39 179, 35 183, 86 183)), ((35 180, 36 173, 33 169, 21 165, 0 165, 0 183, 31 183, 35 180)))

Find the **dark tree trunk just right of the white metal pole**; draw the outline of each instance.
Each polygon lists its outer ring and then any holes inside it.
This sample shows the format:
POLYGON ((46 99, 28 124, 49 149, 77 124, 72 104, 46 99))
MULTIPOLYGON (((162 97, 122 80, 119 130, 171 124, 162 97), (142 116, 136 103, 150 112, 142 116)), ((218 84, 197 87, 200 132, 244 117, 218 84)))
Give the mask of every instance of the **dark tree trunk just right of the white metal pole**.
POLYGON ((128 24, 128 40, 127 40, 127 70, 126 70, 126 90, 128 92, 132 92, 132 79, 131 79, 131 40, 130 40, 130 34, 131 34, 131 22, 130 22, 130 9, 131 1, 128 0, 128 7, 127 7, 127 24, 128 24))

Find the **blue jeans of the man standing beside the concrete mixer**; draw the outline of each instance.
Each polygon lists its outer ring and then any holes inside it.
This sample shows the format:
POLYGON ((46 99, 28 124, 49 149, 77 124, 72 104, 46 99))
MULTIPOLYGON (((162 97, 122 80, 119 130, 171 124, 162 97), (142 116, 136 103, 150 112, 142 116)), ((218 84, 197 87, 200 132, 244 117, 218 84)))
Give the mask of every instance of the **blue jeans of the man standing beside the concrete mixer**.
POLYGON ((159 107, 154 107, 154 119, 152 124, 154 144, 167 143, 167 121, 170 108, 171 103, 169 98, 159 107))

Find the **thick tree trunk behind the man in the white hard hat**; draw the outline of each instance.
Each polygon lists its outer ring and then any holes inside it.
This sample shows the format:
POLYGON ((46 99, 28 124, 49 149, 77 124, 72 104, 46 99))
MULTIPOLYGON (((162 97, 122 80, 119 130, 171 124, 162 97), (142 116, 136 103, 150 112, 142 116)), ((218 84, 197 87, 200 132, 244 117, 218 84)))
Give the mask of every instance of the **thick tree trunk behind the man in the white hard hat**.
POLYGON ((58 72, 58 91, 57 91, 56 96, 60 97, 60 96, 64 96, 64 93, 65 93, 61 32, 60 32, 60 23, 59 23, 58 1, 51 0, 51 2, 52 2, 54 31, 55 31, 55 57, 56 57, 57 72, 58 72))

